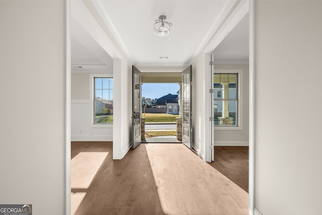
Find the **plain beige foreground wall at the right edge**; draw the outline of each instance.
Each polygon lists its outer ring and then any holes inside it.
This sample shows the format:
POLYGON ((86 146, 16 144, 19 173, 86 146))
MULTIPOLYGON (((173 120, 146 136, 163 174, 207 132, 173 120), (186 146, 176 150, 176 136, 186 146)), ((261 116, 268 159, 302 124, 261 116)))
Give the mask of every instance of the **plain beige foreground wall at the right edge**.
POLYGON ((320 214, 322 2, 255 3, 255 207, 320 214))

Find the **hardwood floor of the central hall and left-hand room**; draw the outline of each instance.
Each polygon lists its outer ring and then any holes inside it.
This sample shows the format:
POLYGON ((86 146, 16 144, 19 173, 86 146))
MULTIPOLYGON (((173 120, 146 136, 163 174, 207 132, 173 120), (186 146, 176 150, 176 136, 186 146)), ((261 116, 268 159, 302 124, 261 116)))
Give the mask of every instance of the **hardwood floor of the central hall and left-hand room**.
POLYGON ((72 214, 248 214, 248 193, 184 145, 112 160, 110 142, 72 142, 71 154, 72 214))

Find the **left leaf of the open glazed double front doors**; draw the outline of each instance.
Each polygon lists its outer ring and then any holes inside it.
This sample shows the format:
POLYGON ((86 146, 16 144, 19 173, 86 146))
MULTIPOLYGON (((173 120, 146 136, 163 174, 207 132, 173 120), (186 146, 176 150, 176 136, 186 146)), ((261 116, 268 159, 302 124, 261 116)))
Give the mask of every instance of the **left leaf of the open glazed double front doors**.
POLYGON ((133 145, 135 149, 141 143, 141 72, 132 65, 132 125, 133 125, 133 145))

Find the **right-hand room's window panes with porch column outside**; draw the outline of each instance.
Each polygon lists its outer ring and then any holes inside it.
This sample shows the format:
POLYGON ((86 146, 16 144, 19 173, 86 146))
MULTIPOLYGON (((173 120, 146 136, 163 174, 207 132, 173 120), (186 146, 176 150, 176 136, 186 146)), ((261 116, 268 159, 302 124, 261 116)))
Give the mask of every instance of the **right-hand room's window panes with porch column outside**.
POLYGON ((214 126, 238 126, 238 74, 214 74, 214 126))

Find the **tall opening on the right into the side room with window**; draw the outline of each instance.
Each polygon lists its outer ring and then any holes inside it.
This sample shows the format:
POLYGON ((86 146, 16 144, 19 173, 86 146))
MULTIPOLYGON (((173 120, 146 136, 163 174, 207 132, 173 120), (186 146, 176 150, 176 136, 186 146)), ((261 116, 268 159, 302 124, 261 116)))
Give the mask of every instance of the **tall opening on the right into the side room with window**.
POLYGON ((249 15, 211 55, 213 168, 249 192, 249 15), (232 54, 234 53, 234 54, 232 54))

